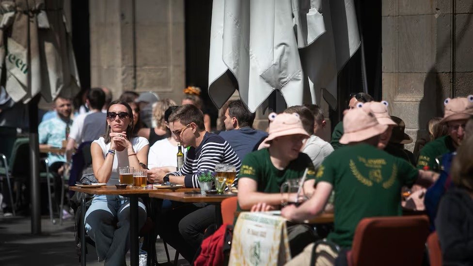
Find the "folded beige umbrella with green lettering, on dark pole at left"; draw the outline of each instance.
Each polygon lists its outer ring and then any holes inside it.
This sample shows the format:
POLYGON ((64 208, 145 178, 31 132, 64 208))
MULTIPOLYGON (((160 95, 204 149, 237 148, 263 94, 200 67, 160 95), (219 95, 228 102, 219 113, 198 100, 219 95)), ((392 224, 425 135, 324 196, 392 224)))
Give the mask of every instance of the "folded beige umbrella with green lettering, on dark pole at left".
POLYGON ((79 77, 63 0, 0 1, 0 84, 11 99, 28 104, 32 233, 41 232, 39 197, 39 94, 48 102, 72 97, 79 77), (4 62, 4 64, 3 64, 4 62))

